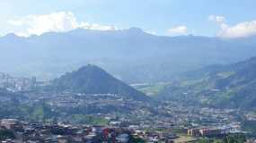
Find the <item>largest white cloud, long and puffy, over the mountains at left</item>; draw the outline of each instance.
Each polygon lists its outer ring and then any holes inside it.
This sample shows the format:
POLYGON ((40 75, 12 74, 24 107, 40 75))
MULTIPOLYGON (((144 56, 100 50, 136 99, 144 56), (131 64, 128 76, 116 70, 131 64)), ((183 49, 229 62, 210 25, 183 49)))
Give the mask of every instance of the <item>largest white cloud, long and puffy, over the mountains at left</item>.
POLYGON ((41 35, 45 32, 64 32, 72 29, 96 29, 110 30, 116 29, 113 26, 77 21, 71 12, 58 12, 43 15, 28 15, 17 20, 8 21, 14 27, 20 27, 19 31, 13 31, 20 36, 28 37, 32 34, 41 35))

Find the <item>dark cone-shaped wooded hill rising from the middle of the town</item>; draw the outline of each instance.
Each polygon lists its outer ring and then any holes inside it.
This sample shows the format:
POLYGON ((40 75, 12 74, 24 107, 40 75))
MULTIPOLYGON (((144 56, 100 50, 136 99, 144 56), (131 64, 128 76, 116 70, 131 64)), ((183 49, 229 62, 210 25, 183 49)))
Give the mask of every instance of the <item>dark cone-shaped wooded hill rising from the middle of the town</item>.
POLYGON ((115 94, 138 101, 150 101, 143 93, 115 79, 95 65, 86 65, 78 71, 68 72, 53 80, 50 89, 60 92, 84 94, 115 94))

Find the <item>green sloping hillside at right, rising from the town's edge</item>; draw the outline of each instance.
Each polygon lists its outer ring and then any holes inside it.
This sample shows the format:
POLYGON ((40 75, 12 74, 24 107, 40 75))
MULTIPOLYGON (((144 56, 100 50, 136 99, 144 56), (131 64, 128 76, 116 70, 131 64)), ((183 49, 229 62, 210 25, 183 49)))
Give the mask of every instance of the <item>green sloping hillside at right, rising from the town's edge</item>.
POLYGON ((256 57, 252 57, 239 63, 190 71, 179 83, 164 88, 159 97, 183 103, 256 110, 255 67, 256 57))

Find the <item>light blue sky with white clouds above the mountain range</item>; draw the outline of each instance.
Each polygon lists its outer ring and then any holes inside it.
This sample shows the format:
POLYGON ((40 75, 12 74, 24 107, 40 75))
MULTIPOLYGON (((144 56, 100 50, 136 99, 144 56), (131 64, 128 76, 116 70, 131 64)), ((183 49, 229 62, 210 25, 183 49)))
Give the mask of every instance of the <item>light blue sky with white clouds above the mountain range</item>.
POLYGON ((0 0, 0 35, 137 27, 154 35, 256 34, 255 0, 0 0))

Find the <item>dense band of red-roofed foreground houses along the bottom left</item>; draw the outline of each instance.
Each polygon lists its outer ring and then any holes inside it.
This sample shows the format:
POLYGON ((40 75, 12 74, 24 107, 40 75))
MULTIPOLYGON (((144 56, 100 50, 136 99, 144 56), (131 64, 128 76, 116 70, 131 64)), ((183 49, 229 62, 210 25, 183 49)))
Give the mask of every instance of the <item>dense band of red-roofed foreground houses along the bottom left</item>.
POLYGON ((136 126, 100 126, 42 124, 38 122, 21 122, 4 119, 0 122, 0 142, 2 143, 129 143, 133 139, 147 142, 171 143, 178 138, 172 133, 138 130, 136 126), (1 131, 2 130, 2 131, 1 131), (2 134, 8 130, 14 136, 2 134), (2 140, 1 140, 2 138, 2 140))

